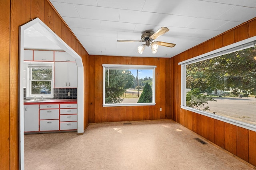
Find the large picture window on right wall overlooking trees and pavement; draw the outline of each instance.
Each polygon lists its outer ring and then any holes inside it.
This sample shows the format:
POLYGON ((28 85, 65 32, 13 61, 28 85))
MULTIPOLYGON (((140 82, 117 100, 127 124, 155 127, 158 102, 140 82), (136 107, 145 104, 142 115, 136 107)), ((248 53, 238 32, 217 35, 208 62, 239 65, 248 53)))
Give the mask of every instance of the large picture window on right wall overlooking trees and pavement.
POLYGON ((179 64, 182 108, 255 130, 255 41, 179 64))

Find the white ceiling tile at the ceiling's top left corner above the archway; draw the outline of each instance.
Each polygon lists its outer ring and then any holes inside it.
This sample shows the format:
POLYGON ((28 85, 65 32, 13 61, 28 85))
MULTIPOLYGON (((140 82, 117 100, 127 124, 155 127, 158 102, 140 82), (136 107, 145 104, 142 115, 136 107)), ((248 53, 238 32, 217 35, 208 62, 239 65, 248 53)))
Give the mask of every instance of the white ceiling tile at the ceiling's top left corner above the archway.
POLYGON ((61 16, 79 18, 79 14, 76 11, 74 4, 67 4, 61 2, 52 2, 54 8, 58 11, 61 16))

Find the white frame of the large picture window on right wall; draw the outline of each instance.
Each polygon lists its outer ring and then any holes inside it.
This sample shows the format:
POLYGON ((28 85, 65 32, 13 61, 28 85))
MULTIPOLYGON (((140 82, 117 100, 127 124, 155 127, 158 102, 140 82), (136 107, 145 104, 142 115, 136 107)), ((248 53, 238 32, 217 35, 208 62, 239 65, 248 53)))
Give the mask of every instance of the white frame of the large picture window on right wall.
POLYGON ((195 109, 195 108, 186 106, 186 65, 196 63, 198 61, 204 61, 206 59, 218 57, 218 56, 225 55, 228 53, 232 53, 235 51, 240 51, 240 50, 247 49, 247 48, 250 48, 253 46, 256 46, 256 36, 250 37, 250 38, 242 40, 242 41, 238 41, 237 43, 227 45, 220 49, 216 49, 214 51, 210 51, 208 53, 205 53, 205 54, 199 55, 197 57, 193 57, 191 59, 188 59, 188 60, 178 63, 179 65, 181 65, 181 93, 180 93, 181 106, 180 106, 180 108, 186 109, 188 111, 193 111, 194 113, 198 113, 198 114, 201 114, 201 115, 204 115, 207 117, 211 117, 213 119, 224 121, 226 123, 230 123, 230 124, 236 125, 238 127, 243 127, 243 128, 246 128, 246 129, 249 129, 252 131, 256 131, 256 125, 248 124, 243 121, 237 121, 237 120, 234 120, 234 119, 231 119, 228 117, 224 117, 224 116, 220 116, 220 115, 211 114, 206 111, 202 111, 199 109, 195 109))

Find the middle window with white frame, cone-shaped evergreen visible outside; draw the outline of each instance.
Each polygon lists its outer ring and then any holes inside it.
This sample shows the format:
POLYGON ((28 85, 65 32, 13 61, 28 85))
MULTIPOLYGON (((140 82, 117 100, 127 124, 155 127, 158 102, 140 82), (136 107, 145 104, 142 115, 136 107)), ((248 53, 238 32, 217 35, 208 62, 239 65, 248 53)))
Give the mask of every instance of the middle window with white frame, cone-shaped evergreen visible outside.
POLYGON ((103 106, 155 105, 156 66, 102 64, 103 106))

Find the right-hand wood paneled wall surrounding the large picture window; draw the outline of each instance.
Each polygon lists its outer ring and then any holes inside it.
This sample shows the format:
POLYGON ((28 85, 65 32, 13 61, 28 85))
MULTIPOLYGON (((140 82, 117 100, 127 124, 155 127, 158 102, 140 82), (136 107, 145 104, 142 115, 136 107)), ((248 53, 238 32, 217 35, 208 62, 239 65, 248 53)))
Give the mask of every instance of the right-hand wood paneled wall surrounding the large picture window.
POLYGON ((173 88, 171 94, 173 119, 198 133, 219 147, 256 166, 256 132, 223 121, 212 119, 180 108, 180 65, 179 62, 236 43, 256 35, 256 18, 230 29, 192 49, 171 58, 173 88))

